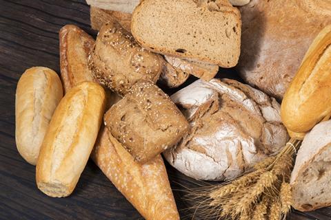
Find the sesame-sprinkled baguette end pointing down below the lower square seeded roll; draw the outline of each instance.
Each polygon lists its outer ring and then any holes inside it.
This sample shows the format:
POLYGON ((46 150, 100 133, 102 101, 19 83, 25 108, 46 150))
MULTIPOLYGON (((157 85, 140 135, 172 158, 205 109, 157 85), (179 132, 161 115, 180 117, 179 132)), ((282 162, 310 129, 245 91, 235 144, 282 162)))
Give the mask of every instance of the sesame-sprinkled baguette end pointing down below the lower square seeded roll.
POLYGON ((161 155, 138 164, 103 127, 91 157, 145 219, 179 219, 161 155))

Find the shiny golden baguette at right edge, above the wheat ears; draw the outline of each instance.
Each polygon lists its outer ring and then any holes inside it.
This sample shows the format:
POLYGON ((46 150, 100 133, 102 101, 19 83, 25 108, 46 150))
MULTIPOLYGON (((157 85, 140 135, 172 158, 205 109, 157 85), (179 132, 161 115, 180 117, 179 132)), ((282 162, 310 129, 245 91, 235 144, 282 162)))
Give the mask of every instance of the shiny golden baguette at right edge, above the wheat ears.
MULTIPOLYGON (((331 25, 317 35, 281 104, 281 119, 292 133, 305 133, 331 113, 331 25)), ((295 136, 297 137, 297 135, 295 136)))

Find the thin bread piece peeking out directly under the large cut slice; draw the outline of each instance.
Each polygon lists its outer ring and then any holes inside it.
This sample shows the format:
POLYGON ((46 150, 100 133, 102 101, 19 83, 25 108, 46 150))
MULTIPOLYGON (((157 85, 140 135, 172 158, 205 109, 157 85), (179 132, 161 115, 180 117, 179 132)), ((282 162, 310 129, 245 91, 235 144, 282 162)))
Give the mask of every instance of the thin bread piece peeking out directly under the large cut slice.
POLYGON ((192 74, 193 76, 196 76, 206 81, 209 81, 214 78, 217 72, 219 72, 219 67, 217 65, 202 62, 186 61, 173 56, 164 57, 165 61, 170 63, 176 69, 181 69, 185 73, 192 74))

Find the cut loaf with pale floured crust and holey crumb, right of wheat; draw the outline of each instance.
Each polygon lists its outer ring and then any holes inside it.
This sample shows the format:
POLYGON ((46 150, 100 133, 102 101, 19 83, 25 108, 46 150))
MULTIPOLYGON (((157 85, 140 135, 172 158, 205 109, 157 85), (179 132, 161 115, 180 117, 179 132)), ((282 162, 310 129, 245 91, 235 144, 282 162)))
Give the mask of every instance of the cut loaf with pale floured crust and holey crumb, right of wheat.
POLYGON ((331 120, 305 135, 290 183, 295 209, 307 212, 331 206, 331 120))

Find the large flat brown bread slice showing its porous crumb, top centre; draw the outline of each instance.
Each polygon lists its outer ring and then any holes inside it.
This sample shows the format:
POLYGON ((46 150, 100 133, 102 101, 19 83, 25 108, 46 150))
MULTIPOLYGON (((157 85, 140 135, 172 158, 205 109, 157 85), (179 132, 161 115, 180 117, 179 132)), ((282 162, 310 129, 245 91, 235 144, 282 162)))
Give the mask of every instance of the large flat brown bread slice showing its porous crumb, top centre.
POLYGON ((145 0, 132 14, 131 31, 153 52, 221 67, 238 62, 240 13, 227 0, 145 0))

